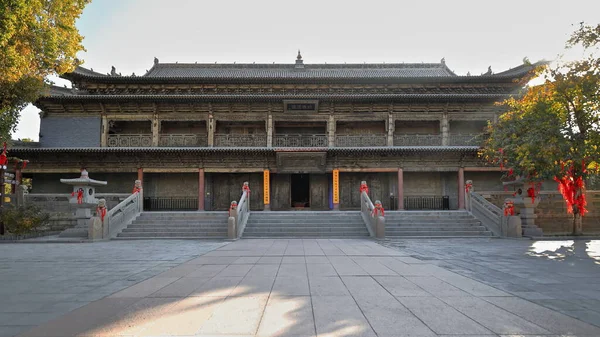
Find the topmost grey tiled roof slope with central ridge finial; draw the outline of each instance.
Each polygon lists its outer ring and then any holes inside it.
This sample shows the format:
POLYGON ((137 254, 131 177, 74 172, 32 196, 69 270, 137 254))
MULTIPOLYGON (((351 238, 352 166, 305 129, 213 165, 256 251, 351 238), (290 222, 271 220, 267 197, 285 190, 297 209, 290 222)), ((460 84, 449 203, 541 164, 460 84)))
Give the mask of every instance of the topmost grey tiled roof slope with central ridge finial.
POLYGON ((189 64, 158 63, 144 77, 181 78, 394 78, 456 76, 443 63, 406 64, 189 64))

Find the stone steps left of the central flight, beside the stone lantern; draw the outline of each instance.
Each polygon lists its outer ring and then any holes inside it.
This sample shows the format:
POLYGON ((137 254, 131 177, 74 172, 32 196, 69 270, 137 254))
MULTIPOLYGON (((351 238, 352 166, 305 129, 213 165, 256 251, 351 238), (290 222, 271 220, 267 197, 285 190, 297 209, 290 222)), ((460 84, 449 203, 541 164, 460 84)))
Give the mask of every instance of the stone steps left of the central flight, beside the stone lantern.
POLYGON ((116 239, 224 239, 227 212, 143 212, 116 239))

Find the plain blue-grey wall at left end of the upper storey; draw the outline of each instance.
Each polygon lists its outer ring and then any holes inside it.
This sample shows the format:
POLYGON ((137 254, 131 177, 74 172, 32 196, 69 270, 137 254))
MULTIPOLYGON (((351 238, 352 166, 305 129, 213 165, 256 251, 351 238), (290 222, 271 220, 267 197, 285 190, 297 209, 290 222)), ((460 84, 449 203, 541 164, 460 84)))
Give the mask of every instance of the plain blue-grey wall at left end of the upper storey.
POLYGON ((42 147, 100 146, 100 131, 99 116, 46 116, 40 121, 40 145, 42 147))

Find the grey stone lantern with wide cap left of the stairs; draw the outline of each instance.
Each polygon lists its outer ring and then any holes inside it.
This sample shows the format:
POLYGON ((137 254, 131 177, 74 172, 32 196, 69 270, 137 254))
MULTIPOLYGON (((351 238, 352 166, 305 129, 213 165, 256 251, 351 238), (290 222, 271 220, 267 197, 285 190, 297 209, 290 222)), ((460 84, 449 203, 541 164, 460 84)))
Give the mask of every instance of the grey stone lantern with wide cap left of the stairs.
POLYGON ((60 237, 88 237, 89 221, 92 218, 92 209, 98 206, 96 199, 96 186, 106 186, 106 181, 90 179, 88 172, 81 170, 81 176, 74 179, 61 179, 61 183, 72 185, 73 193, 69 203, 75 207, 75 218, 77 225, 69 228, 62 233, 60 237))

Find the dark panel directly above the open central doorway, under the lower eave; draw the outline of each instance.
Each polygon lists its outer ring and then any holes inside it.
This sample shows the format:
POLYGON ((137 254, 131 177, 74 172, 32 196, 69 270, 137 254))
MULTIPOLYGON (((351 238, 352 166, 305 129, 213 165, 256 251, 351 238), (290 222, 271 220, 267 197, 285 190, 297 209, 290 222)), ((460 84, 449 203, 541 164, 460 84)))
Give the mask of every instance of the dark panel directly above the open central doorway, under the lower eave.
POLYGON ((324 173, 326 152, 277 152, 278 173, 324 173))

